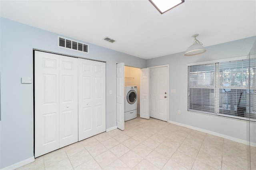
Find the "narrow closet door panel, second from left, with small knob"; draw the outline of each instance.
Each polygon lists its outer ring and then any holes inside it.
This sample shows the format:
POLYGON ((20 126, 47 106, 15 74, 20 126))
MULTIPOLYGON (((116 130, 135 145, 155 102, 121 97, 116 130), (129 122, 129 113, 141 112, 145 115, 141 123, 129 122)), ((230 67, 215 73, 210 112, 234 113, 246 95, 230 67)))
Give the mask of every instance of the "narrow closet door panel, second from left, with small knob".
POLYGON ((78 141, 78 59, 60 55, 60 148, 78 141))

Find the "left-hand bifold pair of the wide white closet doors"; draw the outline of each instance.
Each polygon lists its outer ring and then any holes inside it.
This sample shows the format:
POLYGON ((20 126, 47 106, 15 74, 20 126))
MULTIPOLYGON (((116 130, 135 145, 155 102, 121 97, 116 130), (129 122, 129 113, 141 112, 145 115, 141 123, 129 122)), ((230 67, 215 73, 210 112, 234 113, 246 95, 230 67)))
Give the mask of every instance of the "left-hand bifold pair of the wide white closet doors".
POLYGON ((77 58, 35 51, 35 157, 78 141, 77 58))

